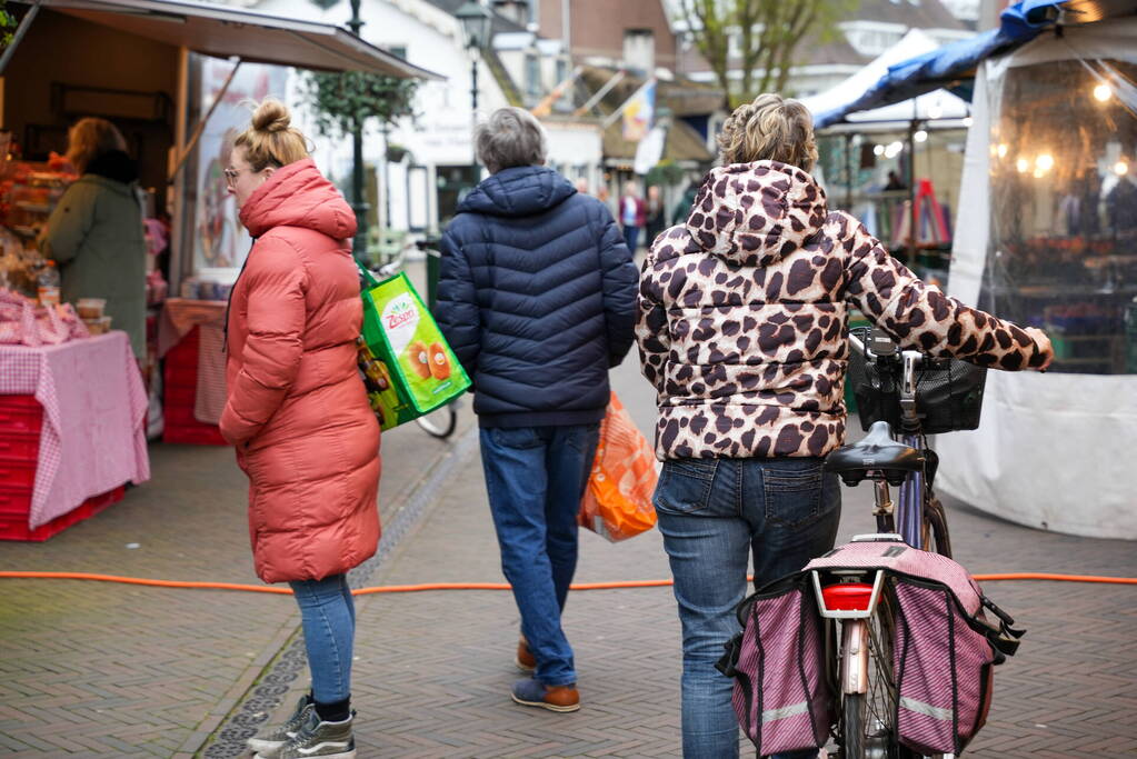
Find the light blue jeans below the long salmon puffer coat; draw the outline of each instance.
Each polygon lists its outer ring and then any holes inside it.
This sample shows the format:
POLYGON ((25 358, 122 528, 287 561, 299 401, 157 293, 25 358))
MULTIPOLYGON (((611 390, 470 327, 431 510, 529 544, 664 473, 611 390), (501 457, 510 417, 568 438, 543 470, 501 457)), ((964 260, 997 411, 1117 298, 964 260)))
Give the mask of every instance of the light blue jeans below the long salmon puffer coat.
POLYGON ((347 575, 289 583, 300 604, 304 647, 312 670, 312 698, 319 703, 351 695, 355 603, 347 575))

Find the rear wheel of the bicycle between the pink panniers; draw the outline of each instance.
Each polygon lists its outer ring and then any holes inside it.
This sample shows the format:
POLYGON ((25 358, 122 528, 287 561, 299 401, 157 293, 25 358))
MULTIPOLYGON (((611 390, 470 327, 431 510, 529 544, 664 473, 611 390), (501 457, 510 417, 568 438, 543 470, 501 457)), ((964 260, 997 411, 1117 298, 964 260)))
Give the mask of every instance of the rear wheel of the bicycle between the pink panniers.
POLYGON ((893 677, 895 634, 893 602, 887 593, 868 620, 869 683, 864 693, 848 693, 841 703, 841 759, 912 759, 916 754, 896 740, 896 683, 893 677))

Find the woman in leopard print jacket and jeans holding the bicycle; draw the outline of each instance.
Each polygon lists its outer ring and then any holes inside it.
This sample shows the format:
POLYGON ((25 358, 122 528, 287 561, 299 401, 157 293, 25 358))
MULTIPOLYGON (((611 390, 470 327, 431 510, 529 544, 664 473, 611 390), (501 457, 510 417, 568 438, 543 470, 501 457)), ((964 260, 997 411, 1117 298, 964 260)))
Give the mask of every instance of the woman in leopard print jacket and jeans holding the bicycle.
MULTIPOLYGON (((948 298, 891 258, 848 214, 830 211, 804 106, 760 95, 727 120, 723 166, 687 222, 644 262, 637 339, 658 393, 655 494, 683 627, 686 757, 735 757, 731 681, 714 669, 754 583, 832 548, 845 439, 848 311, 905 348, 998 369, 1045 368, 1053 352, 948 298)), ((781 754, 814 757, 816 751, 781 754)))

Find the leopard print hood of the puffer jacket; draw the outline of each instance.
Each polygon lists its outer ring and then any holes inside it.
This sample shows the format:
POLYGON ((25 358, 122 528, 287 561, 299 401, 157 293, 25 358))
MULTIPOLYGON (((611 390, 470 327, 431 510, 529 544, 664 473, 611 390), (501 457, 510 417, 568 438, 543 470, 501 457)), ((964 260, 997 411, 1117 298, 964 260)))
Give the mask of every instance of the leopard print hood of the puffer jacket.
POLYGON ((686 227, 708 253, 742 266, 770 266, 816 235, 825 193, 812 176, 778 161, 711 169, 686 227))

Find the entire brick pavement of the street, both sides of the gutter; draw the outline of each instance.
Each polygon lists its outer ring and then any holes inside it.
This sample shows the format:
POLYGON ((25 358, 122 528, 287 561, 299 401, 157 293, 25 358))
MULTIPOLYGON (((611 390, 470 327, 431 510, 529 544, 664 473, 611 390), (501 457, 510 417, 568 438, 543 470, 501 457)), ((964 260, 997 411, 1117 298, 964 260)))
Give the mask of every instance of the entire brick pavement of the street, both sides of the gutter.
MULTIPOLYGON (((652 395, 634 362, 615 376, 649 428, 652 395)), ((467 404, 466 425, 471 416, 467 404)), ((467 448, 472 434, 458 433, 467 448)), ((455 444, 413 426, 384 436, 385 524, 398 523, 429 464, 455 444)), ((244 481, 231 451, 151 453, 151 484, 47 543, 0 544, 0 568, 256 583, 244 481)), ((366 584, 503 581, 476 453, 455 462, 437 495, 366 584)), ((864 485, 846 490, 843 540, 870 531, 870 499, 864 485)), ((1041 533, 955 503, 948 519, 957 558, 976 573, 1137 576, 1131 542, 1041 533)), ((582 535, 579 582, 667 576, 655 532, 615 545, 582 535)), ((248 703, 298 624, 287 597, 0 583, 3 756, 192 756, 248 703)), ((1029 633, 996 670, 994 708, 966 756, 1137 753, 1137 590, 1031 582, 986 590, 1029 633)), ((667 587, 571 597, 565 626, 583 701, 572 715, 509 701, 518 618, 507 592, 366 595, 358 619, 360 757, 678 754, 679 624, 667 587)), ((292 690, 304 685, 301 675, 292 690)))

